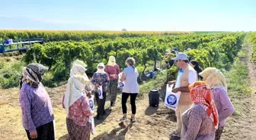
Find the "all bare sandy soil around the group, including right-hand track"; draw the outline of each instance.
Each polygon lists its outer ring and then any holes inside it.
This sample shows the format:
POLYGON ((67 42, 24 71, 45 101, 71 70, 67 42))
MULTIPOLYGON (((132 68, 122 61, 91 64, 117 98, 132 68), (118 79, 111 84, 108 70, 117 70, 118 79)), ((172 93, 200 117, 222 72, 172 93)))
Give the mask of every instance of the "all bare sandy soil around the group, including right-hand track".
MULTIPOLYGON (((251 46, 248 46, 251 51, 251 46)), ((251 53, 249 53, 251 54, 251 53)), ((242 59, 241 63, 247 64, 250 77, 251 94, 232 95, 231 100, 235 109, 239 112, 229 117, 222 134, 222 140, 234 139, 256 139, 256 65, 248 58, 242 59)), ((56 117, 56 139, 64 140, 67 137, 66 113, 62 109, 61 99, 66 86, 59 86, 53 89, 46 89, 50 95, 54 114, 56 117)), ((18 89, 0 89, 0 139, 27 139, 21 123, 21 108, 18 102, 18 89)), ((143 95, 136 101, 137 121, 136 123, 120 124, 118 120, 122 117, 120 95, 117 97, 117 105, 107 115, 104 121, 96 123, 97 135, 92 136, 93 140, 168 140, 169 133, 175 129, 174 111, 168 110, 163 101, 159 107, 149 107, 147 95, 143 95)), ((109 107, 107 101, 106 108, 109 107)), ((128 113, 130 104, 127 102, 128 113)))

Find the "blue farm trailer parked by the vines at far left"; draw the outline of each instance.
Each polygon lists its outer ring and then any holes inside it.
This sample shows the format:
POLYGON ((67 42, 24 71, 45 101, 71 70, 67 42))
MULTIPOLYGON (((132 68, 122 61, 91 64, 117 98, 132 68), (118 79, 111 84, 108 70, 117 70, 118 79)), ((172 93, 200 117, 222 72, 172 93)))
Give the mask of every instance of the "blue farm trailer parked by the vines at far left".
POLYGON ((35 43, 43 44, 43 38, 34 39, 5 39, 5 41, 0 42, 0 53, 19 51, 26 52, 35 43))

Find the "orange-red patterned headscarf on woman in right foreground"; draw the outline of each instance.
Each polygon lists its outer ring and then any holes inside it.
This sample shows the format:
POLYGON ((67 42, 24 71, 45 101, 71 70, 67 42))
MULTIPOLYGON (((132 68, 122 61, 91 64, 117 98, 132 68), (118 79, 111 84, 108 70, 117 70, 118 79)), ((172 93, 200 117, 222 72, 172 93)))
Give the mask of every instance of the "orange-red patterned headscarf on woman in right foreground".
POLYGON ((190 98, 194 101, 194 104, 200 104, 204 110, 206 110, 207 115, 213 120, 213 125, 218 128, 219 116, 216 109, 216 105, 213 101, 213 93, 209 86, 207 86, 204 81, 197 81, 190 86, 190 98))

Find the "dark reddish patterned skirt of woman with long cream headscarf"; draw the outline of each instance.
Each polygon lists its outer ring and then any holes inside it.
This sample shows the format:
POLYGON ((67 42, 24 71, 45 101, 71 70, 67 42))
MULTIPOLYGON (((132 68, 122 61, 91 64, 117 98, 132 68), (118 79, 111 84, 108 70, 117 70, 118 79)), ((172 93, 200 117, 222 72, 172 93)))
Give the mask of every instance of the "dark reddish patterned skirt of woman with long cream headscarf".
POLYGON ((91 124, 79 126, 73 120, 66 118, 69 140, 90 140, 91 124))

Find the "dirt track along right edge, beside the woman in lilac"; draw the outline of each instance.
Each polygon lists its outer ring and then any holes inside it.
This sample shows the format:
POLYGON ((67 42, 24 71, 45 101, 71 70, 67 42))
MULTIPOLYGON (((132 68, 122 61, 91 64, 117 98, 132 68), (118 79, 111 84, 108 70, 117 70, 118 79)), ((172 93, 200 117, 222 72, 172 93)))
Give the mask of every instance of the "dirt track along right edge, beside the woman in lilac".
MULTIPOLYGON (((248 67, 248 76, 251 93, 248 95, 238 95, 232 98, 233 104, 238 104, 235 110, 241 110, 238 115, 234 114, 226 123, 222 134, 223 140, 256 140, 256 64, 251 60, 251 46, 248 45, 245 52, 249 57, 243 58, 240 63, 245 63, 248 67)), ((248 90, 247 89, 247 90, 248 90)))

